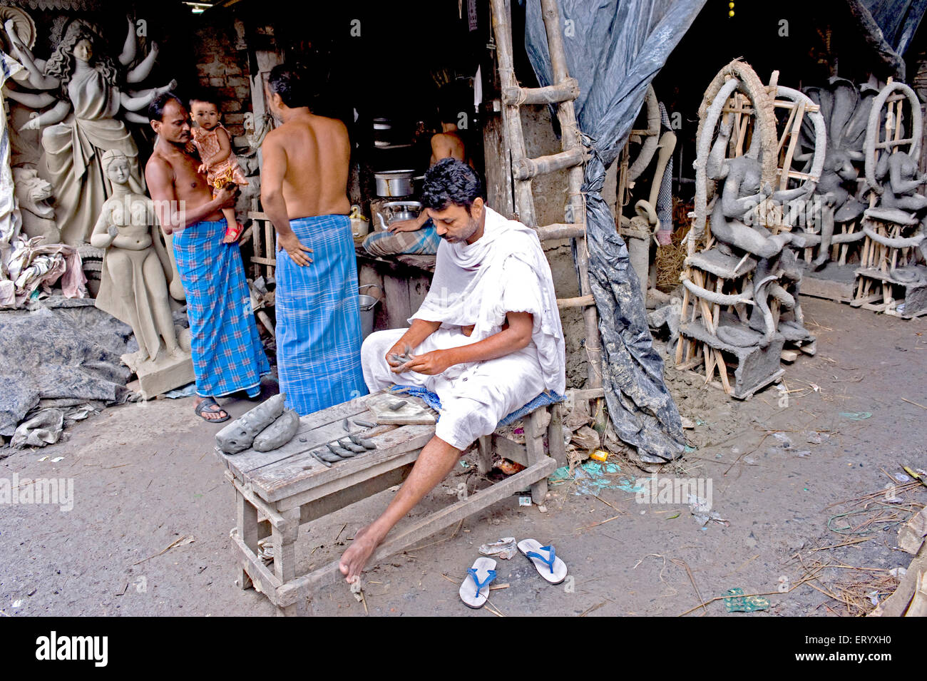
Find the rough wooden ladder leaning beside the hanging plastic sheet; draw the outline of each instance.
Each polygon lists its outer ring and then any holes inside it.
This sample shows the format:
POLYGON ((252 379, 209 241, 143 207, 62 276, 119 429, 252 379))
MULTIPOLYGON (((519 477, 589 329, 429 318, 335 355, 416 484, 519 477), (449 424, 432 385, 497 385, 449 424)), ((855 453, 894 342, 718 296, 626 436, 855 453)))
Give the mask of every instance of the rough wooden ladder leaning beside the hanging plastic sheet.
POLYGON ((511 0, 491 0, 492 29, 499 59, 502 82, 502 139, 512 155, 514 206, 518 219, 538 233, 541 242, 554 239, 576 239, 576 263, 579 271, 579 296, 557 298, 557 307, 582 308, 586 330, 586 352, 589 360, 589 384, 576 391, 576 397, 603 397, 602 341, 599 336, 599 316, 592 297, 589 280, 589 249, 586 243, 586 210, 581 193, 583 163, 586 153, 579 139, 573 102, 579 95, 579 83, 566 70, 563 28, 556 0, 540 0, 547 45, 551 55, 552 85, 538 88, 521 87, 514 74, 511 28, 511 0), (527 158, 525 135, 522 131, 519 107, 523 104, 555 104, 560 122, 563 151, 540 158, 527 158), (541 174, 569 169, 566 198, 566 223, 538 225, 534 209, 531 180, 541 174))

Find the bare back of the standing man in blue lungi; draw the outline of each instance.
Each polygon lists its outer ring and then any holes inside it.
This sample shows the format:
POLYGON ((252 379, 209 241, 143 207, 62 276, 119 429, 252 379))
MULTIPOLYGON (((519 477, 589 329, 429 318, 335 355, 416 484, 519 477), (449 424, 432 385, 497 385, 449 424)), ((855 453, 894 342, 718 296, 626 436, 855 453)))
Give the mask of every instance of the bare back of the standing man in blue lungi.
POLYGON ((300 112, 269 132, 263 148, 286 158, 283 195, 290 220, 349 213, 350 142, 344 123, 300 112))

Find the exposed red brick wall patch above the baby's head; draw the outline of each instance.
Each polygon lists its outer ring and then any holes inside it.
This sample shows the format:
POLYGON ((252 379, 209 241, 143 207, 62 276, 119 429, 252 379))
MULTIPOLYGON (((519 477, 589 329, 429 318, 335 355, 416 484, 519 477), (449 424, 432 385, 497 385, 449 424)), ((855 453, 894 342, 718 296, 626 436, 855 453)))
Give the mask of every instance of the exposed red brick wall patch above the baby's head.
POLYGON ((194 32, 199 85, 219 99, 222 122, 233 137, 245 134, 245 114, 251 110, 248 50, 235 49, 233 19, 194 32))

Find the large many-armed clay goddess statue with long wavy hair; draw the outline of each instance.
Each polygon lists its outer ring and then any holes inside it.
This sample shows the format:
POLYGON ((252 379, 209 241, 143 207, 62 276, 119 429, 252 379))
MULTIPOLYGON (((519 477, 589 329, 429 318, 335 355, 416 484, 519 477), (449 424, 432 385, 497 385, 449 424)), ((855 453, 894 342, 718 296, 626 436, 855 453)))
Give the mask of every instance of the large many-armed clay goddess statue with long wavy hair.
MULTIPOLYGON (((108 55, 97 54, 98 34, 86 21, 76 19, 44 62, 32 57, 29 49, 19 42, 10 22, 6 33, 19 60, 29 71, 26 84, 40 94, 9 90, 6 95, 20 104, 33 108, 53 105, 33 116, 23 129, 44 129, 42 146, 48 177, 55 187, 56 221, 61 239, 67 244, 82 244, 90 236, 104 201, 112 194, 106 174, 100 166, 100 156, 106 149, 118 149, 128 159, 129 186, 133 192, 145 191, 138 168, 138 149, 122 120, 116 118, 122 109, 123 118, 143 120, 134 111, 146 107, 155 96, 171 89, 166 87, 124 92, 123 87, 144 81, 158 56, 153 46, 138 66, 121 77, 120 69, 108 55)), ((132 23, 119 57, 125 67, 135 58, 135 32, 132 23)))

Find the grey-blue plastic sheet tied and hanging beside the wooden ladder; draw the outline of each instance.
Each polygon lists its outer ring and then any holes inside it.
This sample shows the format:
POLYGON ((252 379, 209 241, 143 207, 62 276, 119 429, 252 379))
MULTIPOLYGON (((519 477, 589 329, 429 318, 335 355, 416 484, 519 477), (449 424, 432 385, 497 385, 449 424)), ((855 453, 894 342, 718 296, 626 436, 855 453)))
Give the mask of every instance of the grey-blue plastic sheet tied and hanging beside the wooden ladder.
MULTIPOLYGON (((663 380, 663 360, 647 328, 641 284, 602 187, 647 86, 704 5, 705 0, 558 1, 567 69, 579 82, 579 130, 590 148, 582 191, 590 284, 603 341, 605 401, 617 435, 638 449, 641 460, 651 462, 679 457, 685 439, 663 380)), ((552 84, 538 0, 527 3, 525 44, 540 84, 552 84)))

